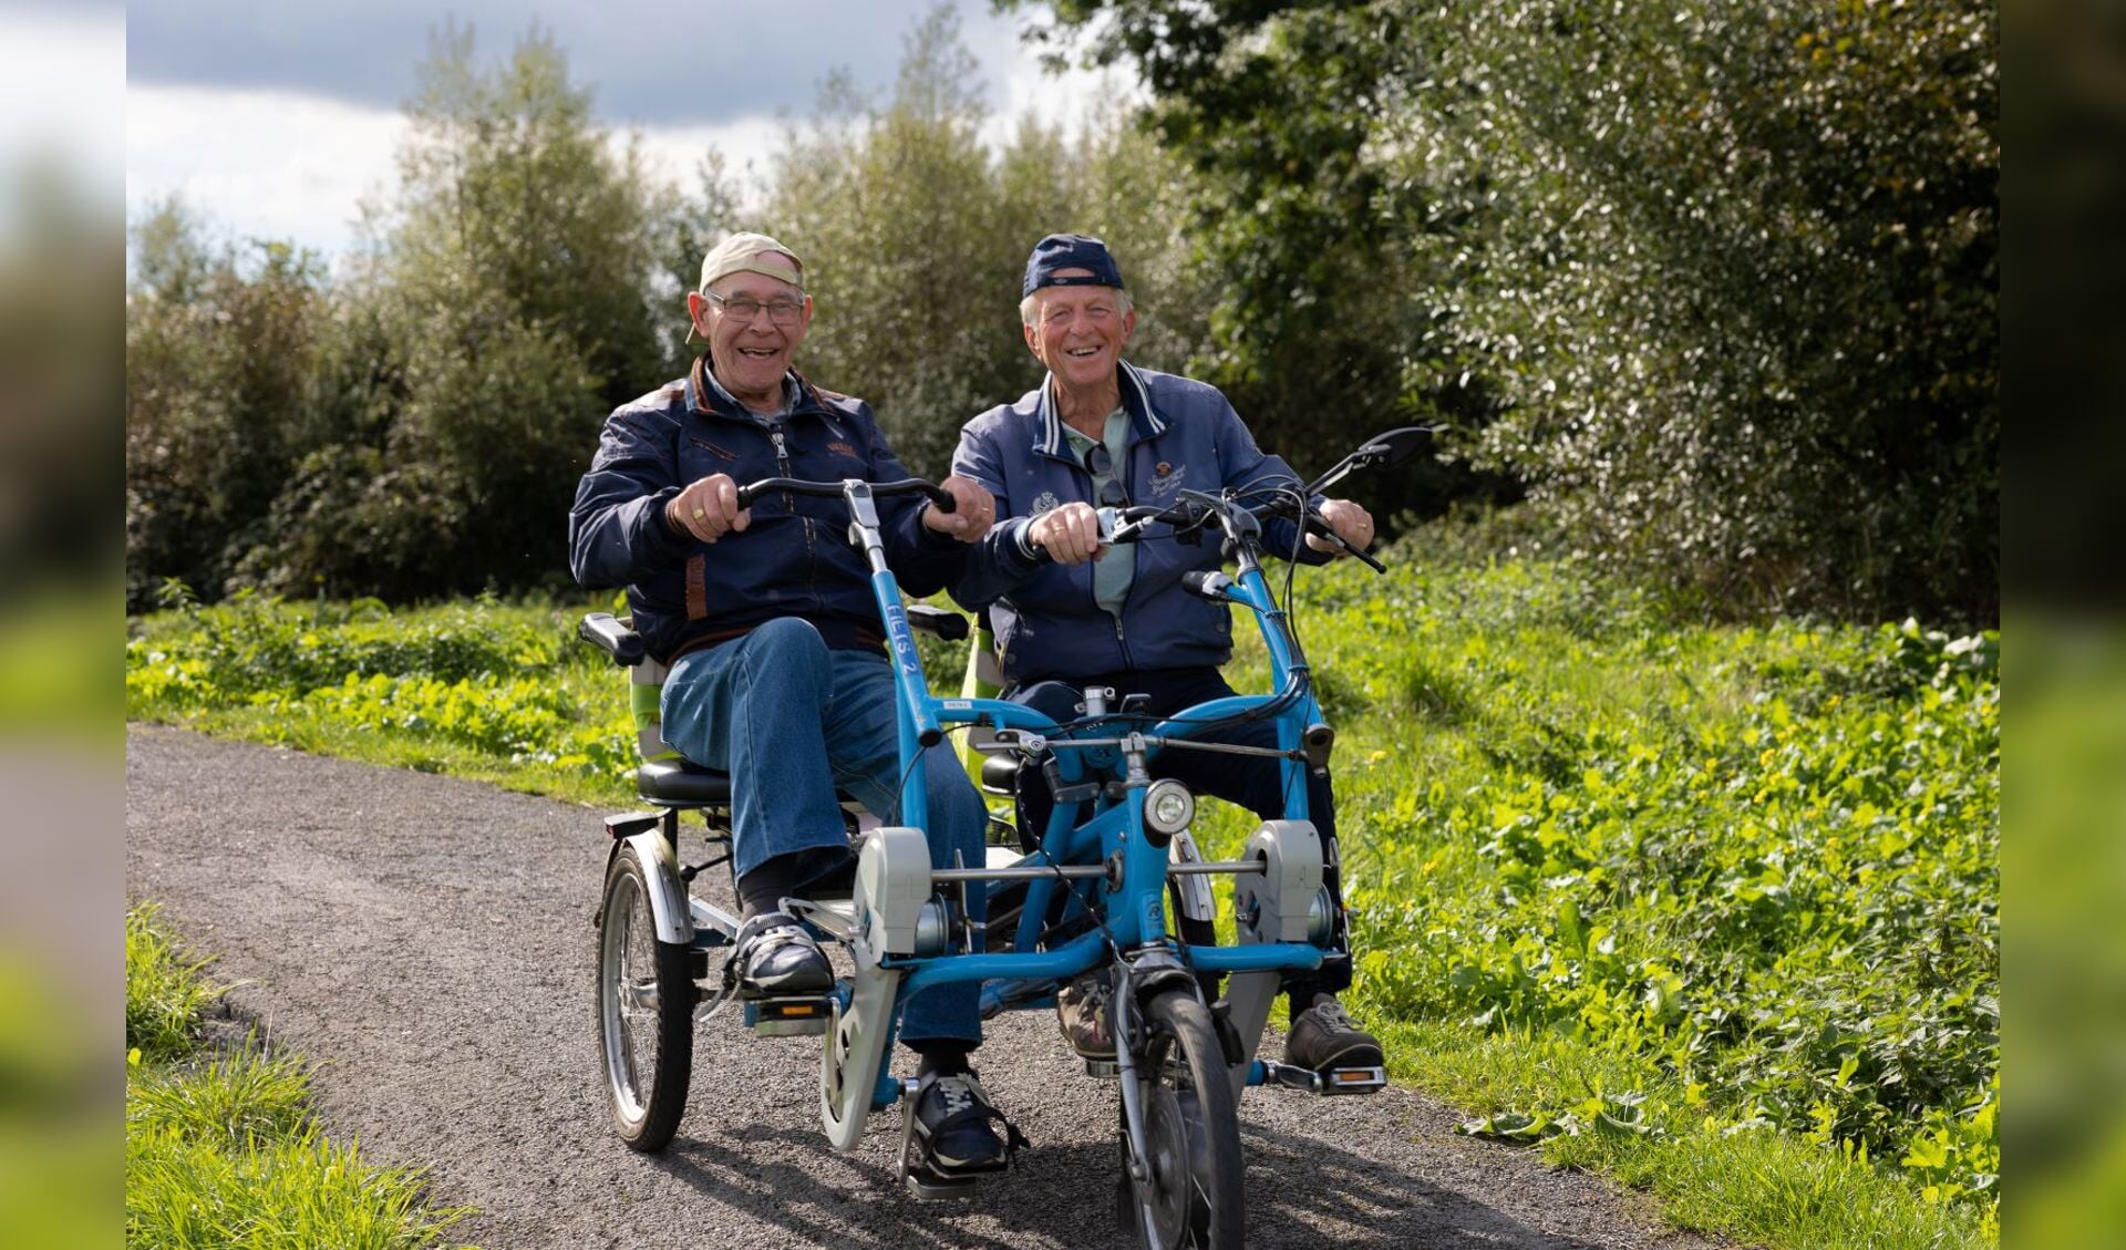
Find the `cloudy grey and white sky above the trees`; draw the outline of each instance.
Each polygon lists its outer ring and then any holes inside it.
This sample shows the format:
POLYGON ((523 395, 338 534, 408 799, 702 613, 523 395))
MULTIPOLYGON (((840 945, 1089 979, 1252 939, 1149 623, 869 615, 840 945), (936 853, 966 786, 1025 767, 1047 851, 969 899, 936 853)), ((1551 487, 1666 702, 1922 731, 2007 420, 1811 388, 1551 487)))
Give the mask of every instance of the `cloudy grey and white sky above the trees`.
MULTIPOLYGON (((400 106, 446 19, 472 26, 483 64, 534 23, 551 32, 597 117, 638 128, 655 168, 691 185, 710 145, 733 170, 759 162, 778 115, 806 115, 836 68, 859 87, 891 85, 933 2, 134 0, 123 9, 128 213, 179 193, 238 238, 342 251, 357 200, 389 187, 400 106)), ((1027 111, 1072 123, 1099 89, 1091 74, 1042 74, 1016 36, 1025 17, 948 2, 997 136, 1027 111)))

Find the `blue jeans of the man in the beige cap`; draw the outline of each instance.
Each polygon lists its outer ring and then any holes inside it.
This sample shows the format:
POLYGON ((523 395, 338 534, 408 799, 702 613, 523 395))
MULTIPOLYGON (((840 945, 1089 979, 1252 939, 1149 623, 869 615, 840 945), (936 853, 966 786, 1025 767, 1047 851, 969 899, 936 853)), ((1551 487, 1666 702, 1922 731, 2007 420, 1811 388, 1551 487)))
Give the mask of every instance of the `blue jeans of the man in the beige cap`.
MULTIPOLYGON (((848 846, 836 789, 887 825, 899 810, 901 759, 893 668, 874 651, 829 651, 795 616, 682 655, 663 687, 663 736, 687 759, 731 774, 731 867, 744 876, 776 855, 848 846)), ((923 753, 931 867, 982 867, 989 812, 950 746, 923 753)), ((974 923, 982 891, 967 891, 974 923)), ((942 984, 910 999, 904 1042, 982 1040, 980 984, 942 984)))

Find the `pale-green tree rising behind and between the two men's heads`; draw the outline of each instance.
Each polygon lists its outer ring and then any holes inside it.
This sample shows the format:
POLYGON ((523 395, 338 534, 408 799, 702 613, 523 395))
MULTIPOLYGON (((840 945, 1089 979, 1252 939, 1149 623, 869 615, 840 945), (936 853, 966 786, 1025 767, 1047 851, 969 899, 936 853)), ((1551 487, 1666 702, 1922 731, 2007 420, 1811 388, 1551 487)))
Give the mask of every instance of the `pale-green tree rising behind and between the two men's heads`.
POLYGON ((1018 325, 1033 242, 1108 240, 1140 304, 1131 355, 1180 368, 1203 342, 1178 264, 1176 162, 1106 111, 1072 138, 1031 119, 991 151, 982 83, 948 9, 908 38, 884 102, 831 81, 791 128, 761 227, 806 257, 819 319, 802 368, 870 400, 901 459, 944 474, 959 427, 1040 376, 1018 325))

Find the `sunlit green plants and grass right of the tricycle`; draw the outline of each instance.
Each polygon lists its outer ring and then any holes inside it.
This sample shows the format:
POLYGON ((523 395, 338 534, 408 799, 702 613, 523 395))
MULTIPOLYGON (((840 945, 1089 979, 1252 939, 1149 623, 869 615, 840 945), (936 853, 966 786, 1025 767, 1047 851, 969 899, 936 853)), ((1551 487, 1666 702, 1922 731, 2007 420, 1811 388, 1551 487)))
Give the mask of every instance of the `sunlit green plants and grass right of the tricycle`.
MULTIPOLYGON (((1996 636, 1686 627, 1584 568, 1452 561, 1316 574, 1301 623, 1344 729, 1356 1003, 1424 1025, 1403 1074, 1663 1193, 1648 1150, 1686 1139, 1722 1203, 1773 1201, 1705 1142, 1765 1127, 1762 1159, 1816 1142, 1960 1212, 1916 1229, 1992 1227, 1996 636)), ((1807 1210, 1714 1224, 1890 1237, 1807 1210)))

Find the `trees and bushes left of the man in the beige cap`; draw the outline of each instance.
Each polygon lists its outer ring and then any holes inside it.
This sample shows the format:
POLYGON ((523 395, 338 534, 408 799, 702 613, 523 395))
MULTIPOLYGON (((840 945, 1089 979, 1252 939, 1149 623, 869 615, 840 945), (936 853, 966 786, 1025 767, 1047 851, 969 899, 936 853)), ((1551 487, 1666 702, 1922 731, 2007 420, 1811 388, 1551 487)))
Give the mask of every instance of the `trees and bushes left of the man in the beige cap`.
POLYGON ((678 319, 651 295, 699 215, 536 30, 480 70, 446 28, 419 81, 347 274, 204 242, 174 206, 136 225, 134 606, 168 576, 398 599, 559 578, 600 421, 672 368, 678 319))

